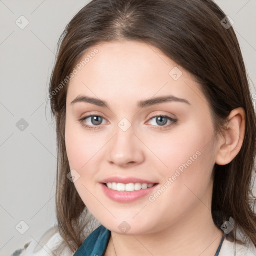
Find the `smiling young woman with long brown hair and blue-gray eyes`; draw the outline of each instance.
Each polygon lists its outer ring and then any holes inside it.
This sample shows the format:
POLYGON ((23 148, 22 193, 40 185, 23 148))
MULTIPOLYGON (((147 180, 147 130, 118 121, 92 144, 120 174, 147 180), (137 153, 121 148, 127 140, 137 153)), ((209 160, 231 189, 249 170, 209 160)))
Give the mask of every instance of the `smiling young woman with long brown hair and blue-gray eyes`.
POLYGON ((93 0, 70 21, 48 94, 52 253, 255 255, 256 118, 231 25, 211 0, 93 0))

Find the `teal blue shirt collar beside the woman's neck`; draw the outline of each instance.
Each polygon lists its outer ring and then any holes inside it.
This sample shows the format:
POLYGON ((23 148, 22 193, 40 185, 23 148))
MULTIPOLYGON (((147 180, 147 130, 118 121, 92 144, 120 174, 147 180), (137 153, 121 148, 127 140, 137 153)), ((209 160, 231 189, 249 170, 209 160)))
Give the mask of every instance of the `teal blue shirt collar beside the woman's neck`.
MULTIPOLYGON (((103 256, 110 236, 111 231, 106 229, 103 225, 100 225, 85 239, 73 256, 103 256)), ((215 256, 218 256, 224 238, 225 233, 223 233, 215 256)))

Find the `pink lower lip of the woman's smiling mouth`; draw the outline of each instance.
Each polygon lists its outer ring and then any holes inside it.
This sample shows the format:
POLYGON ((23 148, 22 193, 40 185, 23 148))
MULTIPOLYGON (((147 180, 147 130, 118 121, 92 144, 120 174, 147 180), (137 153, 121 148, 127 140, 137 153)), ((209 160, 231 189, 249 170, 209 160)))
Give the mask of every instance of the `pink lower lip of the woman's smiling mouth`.
POLYGON ((155 184, 152 187, 149 187, 146 189, 140 189, 137 191, 117 191, 117 190, 108 188, 103 183, 100 183, 100 185, 105 195, 116 202, 133 202, 149 194, 158 186, 158 184, 155 184))

